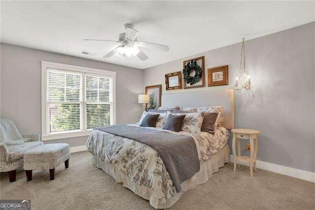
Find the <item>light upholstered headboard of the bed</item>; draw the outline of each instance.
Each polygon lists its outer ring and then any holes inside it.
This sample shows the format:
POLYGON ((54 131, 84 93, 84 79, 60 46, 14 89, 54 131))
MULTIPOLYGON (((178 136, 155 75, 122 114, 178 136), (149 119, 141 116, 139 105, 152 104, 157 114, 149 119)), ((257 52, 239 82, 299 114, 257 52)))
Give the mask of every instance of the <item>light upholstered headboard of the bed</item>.
POLYGON ((224 117, 224 127, 234 128, 234 93, 230 90, 199 91, 163 94, 162 106, 218 106, 224 105, 222 117, 224 117))

